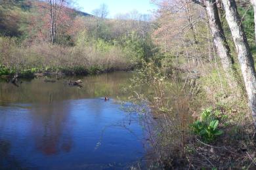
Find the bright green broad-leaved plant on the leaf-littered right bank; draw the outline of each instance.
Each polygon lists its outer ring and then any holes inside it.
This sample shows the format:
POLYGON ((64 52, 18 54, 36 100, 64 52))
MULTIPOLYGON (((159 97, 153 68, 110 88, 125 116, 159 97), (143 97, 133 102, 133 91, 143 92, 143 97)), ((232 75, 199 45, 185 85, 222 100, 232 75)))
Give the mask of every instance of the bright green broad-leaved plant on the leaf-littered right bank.
POLYGON ((200 115, 200 120, 196 120, 190 127, 196 135, 200 135, 203 142, 211 143, 223 134, 218 125, 219 120, 215 118, 215 113, 211 109, 205 109, 200 115))

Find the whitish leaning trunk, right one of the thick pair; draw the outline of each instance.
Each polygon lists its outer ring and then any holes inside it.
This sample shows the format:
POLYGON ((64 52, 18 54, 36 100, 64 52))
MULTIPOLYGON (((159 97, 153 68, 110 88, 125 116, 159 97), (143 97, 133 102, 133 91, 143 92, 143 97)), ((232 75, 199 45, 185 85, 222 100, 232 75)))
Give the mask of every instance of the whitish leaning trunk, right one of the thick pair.
POLYGON ((226 21, 230 27, 236 52, 238 53, 248 104, 252 111, 253 123, 256 127, 256 74, 253 57, 249 50, 249 44, 241 24, 236 2, 234 0, 223 0, 223 6, 226 12, 226 21))

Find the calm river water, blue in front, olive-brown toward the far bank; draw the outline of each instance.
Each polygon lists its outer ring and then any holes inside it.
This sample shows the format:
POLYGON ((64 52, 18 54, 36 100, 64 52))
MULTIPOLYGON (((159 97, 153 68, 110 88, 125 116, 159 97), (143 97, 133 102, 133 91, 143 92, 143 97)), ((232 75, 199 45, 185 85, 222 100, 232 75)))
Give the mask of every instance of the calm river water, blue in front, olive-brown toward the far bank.
POLYGON ((131 73, 0 81, 0 169, 123 169, 146 154, 137 113, 117 97, 131 73), (104 101, 104 96, 110 97, 104 101))

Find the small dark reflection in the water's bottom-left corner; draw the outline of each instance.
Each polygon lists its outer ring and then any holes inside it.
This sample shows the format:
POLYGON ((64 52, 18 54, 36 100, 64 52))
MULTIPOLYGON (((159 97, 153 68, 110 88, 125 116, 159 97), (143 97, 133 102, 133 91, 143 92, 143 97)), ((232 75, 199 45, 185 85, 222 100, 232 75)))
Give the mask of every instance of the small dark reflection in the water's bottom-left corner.
POLYGON ((10 155, 11 143, 0 139, 0 169, 22 169, 20 163, 10 155))

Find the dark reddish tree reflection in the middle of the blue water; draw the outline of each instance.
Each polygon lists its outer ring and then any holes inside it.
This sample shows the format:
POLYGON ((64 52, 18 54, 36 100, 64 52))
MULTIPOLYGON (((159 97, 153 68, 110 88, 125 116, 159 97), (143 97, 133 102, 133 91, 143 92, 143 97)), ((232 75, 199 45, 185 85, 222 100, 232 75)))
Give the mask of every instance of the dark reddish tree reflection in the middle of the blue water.
POLYGON ((72 137, 66 127, 68 106, 64 103, 51 103, 33 110, 33 133, 35 144, 43 154, 70 152, 72 137))

